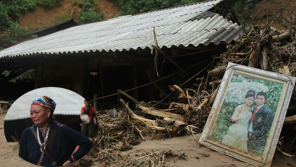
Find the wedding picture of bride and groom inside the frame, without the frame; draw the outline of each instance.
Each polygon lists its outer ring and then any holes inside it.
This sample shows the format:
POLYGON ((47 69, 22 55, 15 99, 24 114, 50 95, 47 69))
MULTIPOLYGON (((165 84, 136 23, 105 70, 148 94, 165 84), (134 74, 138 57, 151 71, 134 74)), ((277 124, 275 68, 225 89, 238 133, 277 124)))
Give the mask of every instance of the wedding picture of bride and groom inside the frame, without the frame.
POLYGON ((234 74, 212 139, 226 147, 262 157, 282 87, 282 83, 234 74))

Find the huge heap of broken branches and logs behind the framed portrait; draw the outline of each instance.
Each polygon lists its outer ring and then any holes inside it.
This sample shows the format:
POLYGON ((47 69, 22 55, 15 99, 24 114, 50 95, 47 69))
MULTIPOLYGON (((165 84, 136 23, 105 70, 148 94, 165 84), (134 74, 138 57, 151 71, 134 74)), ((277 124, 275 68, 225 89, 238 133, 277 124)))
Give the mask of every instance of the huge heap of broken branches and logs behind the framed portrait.
MULTIPOLYGON (((272 23, 245 29, 239 40, 213 59, 213 70, 206 76, 194 78, 197 81, 194 88, 169 87, 178 93, 178 102, 136 102, 137 113, 120 99, 123 109, 115 119, 109 115, 98 116, 99 132, 89 155, 103 162, 101 166, 166 166, 164 157, 168 152, 155 150, 132 158, 122 158, 120 152, 131 149, 147 136, 159 139, 192 134, 194 137, 194 133, 202 132, 228 62, 296 77, 296 20, 290 23, 286 31, 276 30, 271 27, 272 23)), ((292 98, 295 97, 293 91, 292 98)), ((295 101, 291 100, 289 108, 295 106, 295 101)), ((295 115, 295 112, 287 115, 295 115)), ((296 117, 292 117, 289 124, 296 123, 296 117)))

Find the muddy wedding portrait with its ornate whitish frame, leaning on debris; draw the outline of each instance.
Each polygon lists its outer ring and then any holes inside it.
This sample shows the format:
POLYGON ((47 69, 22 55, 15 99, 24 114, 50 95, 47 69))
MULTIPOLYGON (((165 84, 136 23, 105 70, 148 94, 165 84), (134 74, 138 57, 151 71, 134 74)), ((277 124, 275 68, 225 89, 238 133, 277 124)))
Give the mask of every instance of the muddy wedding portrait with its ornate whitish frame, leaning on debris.
POLYGON ((270 166, 295 77, 228 63, 199 144, 270 166))

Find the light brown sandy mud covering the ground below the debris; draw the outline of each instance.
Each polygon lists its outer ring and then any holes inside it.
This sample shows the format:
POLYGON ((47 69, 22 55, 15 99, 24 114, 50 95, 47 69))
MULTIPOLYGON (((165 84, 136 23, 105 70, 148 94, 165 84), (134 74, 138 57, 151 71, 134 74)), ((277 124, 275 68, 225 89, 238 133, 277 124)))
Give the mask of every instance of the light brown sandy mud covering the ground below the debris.
MULTIPOLYGON (((25 160, 22 160, 16 153, 17 149, 16 152, 12 150, 9 144, 12 147, 17 147, 15 143, 7 143, 4 136, 4 118, 5 114, 0 114, 0 166, 35 166, 26 162, 25 160)), ((168 166, 253 166, 249 163, 231 158, 207 147, 200 146, 198 144, 200 134, 195 134, 194 136, 197 139, 196 141, 194 140, 194 137, 192 135, 174 137, 171 139, 147 139, 147 141, 142 141, 140 144, 133 146, 133 149, 121 152, 121 156, 122 158, 129 158, 133 157, 134 155, 152 152, 159 147, 160 152, 169 152, 169 156, 165 157, 165 164, 168 166)), ((94 162, 92 166, 99 166, 99 164, 100 162, 94 162)), ((289 166, 288 164, 296 166, 295 159, 289 158, 279 152, 276 152, 271 166, 289 166)))

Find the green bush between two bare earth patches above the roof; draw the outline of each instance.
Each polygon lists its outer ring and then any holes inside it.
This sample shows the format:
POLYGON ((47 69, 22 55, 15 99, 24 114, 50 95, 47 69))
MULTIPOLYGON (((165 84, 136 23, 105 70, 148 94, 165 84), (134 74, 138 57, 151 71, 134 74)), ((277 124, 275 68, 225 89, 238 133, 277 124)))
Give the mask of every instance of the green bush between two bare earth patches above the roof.
POLYGON ((77 4, 79 7, 83 7, 79 18, 82 24, 101 21, 104 19, 104 13, 97 12, 97 4, 98 3, 94 0, 83 0, 77 4))

